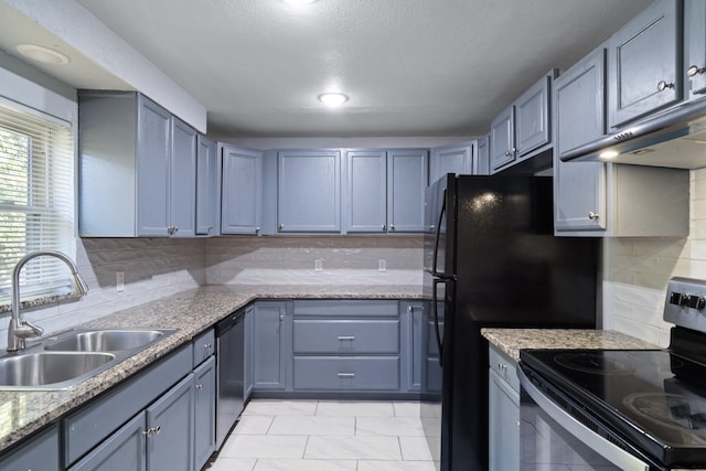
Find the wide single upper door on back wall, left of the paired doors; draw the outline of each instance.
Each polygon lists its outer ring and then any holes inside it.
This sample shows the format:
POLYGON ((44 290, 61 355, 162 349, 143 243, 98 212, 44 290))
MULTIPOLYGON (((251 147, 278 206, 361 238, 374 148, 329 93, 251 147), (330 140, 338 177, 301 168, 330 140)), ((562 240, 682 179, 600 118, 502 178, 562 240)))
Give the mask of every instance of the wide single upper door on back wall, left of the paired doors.
POLYGON ((341 152, 278 153, 280 233, 341 232, 341 152))

